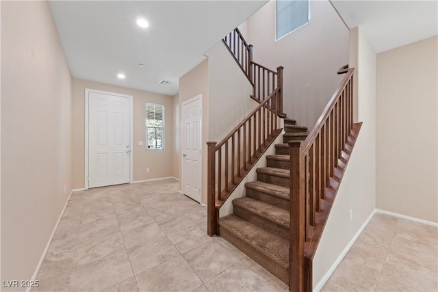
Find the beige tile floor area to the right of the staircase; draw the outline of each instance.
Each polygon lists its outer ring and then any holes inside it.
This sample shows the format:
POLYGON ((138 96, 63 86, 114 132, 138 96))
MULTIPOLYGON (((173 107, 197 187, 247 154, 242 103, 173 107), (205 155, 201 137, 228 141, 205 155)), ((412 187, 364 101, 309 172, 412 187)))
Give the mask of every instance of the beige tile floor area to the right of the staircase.
POLYGON ((437 230, 374 215, 321 291, 438 291, 437 230))

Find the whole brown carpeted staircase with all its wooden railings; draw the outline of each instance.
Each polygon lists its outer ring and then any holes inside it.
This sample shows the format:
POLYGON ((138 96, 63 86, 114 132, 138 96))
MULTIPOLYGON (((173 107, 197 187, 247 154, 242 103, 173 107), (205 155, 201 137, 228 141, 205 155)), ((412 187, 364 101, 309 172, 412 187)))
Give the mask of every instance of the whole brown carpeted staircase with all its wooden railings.
POLYGON ((233 243, 289 291, 312 291, 313 256, 361 129, 353 119, 355 69, 339 69, 344 80, 307 132, 283 112, 283 67, 275 72, 253 62, 253 46, 238 29, 222 42, 259 105, 221 142, 207 142, 207 234, 233 243), (220 207, 283 130, 283 143, 257 168, 257 181, 233 200, 233 214, 219 218, 220 207))

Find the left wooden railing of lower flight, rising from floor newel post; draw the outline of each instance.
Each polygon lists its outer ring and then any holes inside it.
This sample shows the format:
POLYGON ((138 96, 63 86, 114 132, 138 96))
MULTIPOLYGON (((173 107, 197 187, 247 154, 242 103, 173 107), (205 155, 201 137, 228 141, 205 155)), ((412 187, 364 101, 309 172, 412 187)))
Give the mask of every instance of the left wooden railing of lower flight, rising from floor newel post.
POLYGON ((224 139, 207 142, 207 233, 218 234, 219 209, 283 129, 276 88, 224 139))

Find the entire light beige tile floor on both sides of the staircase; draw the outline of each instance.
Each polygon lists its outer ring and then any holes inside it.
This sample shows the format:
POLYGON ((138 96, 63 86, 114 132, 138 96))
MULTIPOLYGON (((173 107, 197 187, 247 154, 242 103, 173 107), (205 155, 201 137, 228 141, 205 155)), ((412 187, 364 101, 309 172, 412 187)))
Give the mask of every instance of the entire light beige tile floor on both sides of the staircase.
MULTIPOLYGON (((32 291, 287 291, 175 180, 76 192, 32 291)), ((437 291, 437 228, 375 215, 322 291, 437 291)))

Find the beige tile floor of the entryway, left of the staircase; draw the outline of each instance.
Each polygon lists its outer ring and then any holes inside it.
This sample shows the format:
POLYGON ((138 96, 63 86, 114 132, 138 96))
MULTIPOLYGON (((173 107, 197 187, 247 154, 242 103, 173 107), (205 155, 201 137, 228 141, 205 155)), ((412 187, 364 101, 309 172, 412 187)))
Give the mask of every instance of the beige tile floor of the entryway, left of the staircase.
POLYGON ((32 291, 285 291, 175 180, 76 192, 32 291))

